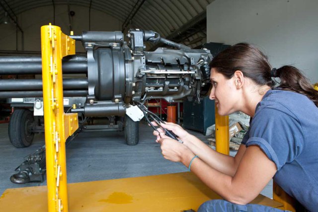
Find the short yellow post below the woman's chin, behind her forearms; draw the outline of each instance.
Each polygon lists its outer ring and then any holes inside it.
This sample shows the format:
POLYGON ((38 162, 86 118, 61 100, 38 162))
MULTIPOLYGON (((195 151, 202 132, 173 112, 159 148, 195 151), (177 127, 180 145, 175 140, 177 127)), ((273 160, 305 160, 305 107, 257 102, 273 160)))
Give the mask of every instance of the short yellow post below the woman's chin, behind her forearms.
POLYGON ((220 116, 215 106, 215 147, 222 154, 230 154, 229 116, 220 116))

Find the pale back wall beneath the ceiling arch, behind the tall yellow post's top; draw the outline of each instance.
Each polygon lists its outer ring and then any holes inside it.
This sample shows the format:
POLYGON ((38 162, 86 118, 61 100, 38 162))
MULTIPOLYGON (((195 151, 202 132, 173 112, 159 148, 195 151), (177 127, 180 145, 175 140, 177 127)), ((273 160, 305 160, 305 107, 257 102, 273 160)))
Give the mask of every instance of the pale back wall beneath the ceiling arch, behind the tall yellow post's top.
MULTIPOLYGON (((71 6, 75 11, 72 18, 74 34, 88 31, 88 7, 71 6)), ((41 51, 41 26, 53 25, 53 6, 43 6, 25 11, 18 15, 18 22, 24 31, 24 50, 41 51)), ((62 28, 63 33, 69 34, 69 18, 67 5, 55 6, 55 25, 62 28)), ((106 13, 91 9, 91 31, 121 31, 122 22, 106 13)), ((0 25, 0 50, 16 50, 15 26, 0 25)), ((18 50, 21 50, 21 34, 18 33, 18 50)), ((81 43, 76 43, 76 51, 84 52, 81 43)))

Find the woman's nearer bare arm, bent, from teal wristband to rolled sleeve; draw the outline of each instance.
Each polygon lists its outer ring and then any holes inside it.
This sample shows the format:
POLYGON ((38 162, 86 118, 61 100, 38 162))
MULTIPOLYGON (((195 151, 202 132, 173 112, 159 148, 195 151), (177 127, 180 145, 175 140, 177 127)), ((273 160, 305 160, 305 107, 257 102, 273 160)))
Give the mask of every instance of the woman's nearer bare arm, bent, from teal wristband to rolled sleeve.
MULTIPOLYGON (((188 166, 193 154, 184 155, 181 162, 188 166)), ((209 188, 225 200, 245 205, 255 199, 276 173, 276 165, 258 146, 246 148, 234 176, 212 168, 200 158, 191 164, 194 172, 209 188)))

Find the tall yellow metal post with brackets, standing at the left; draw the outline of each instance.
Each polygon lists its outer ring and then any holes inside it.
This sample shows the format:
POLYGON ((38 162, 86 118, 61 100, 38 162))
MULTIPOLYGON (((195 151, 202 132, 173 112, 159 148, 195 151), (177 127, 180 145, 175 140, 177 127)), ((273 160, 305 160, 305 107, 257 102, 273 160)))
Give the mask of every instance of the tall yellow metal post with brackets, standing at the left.
POLYGON ((78 115, 64 114, 62 58, 75 54, 75 40, 50 23, 41 27, 41 50, 48 211, 68 212, 65 141, 78 115))

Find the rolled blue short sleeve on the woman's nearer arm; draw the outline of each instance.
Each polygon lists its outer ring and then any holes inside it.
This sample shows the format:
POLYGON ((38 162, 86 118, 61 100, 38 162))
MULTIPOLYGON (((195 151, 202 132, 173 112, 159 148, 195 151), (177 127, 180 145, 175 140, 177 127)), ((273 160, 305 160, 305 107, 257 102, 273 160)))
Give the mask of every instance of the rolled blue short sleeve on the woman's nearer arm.
POLYGON ((302 126, 287 108, 275 102, 259 105, 251 122, 246 147, 258 145, 277 170, 302 151, 302 126))

